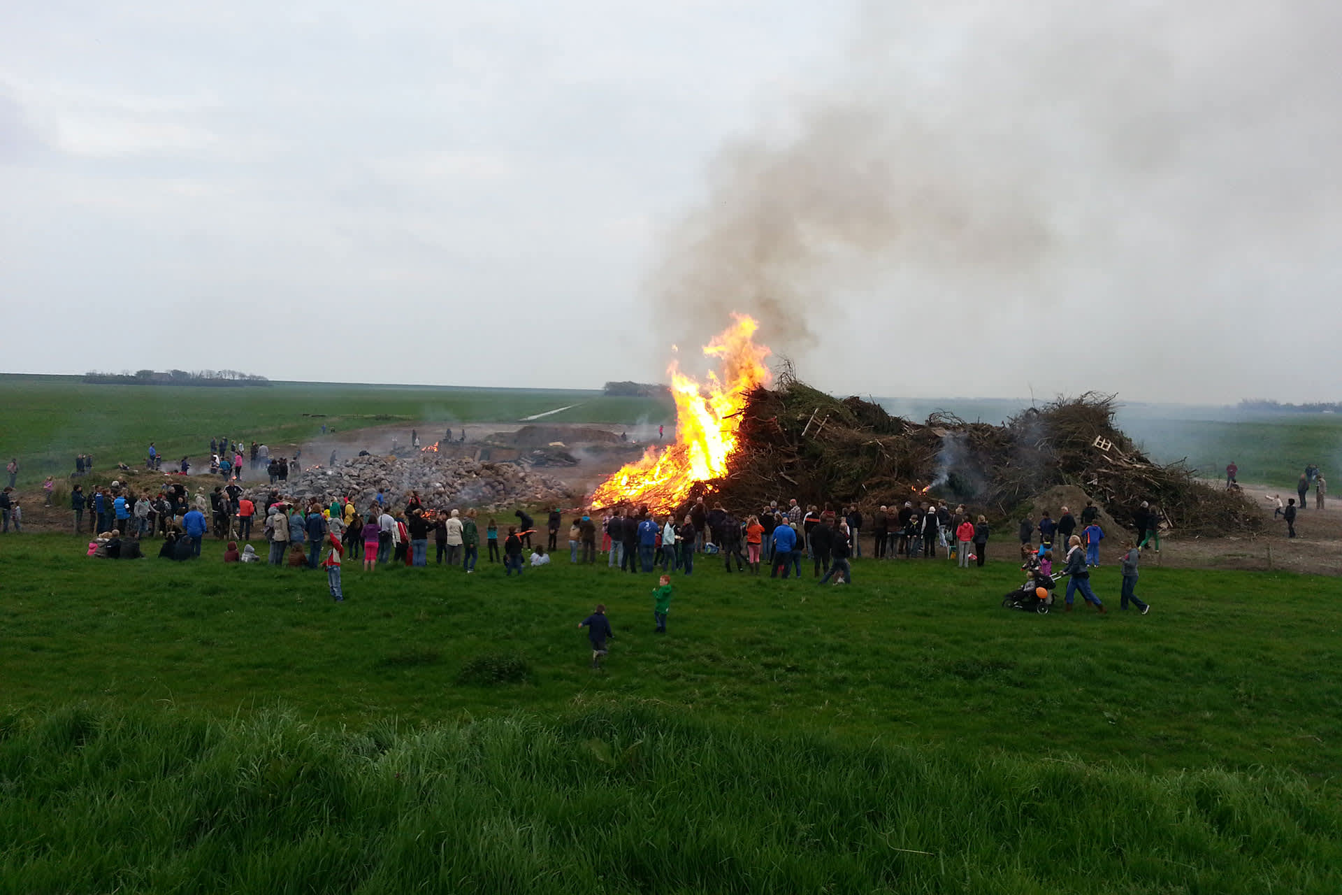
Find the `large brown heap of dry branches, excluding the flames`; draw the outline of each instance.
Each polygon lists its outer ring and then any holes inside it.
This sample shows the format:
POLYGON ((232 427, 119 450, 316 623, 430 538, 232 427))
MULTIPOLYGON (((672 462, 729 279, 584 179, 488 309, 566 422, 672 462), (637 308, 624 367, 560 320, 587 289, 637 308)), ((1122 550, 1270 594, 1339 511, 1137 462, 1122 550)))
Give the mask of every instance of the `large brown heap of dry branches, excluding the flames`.
POLYGON ((1075 484, 1123 525, 1149 502, 1182 533, 1261 527, 1261 513, 1241 495, 1198 482, 1184 463, 1153 463, 1115 427, 1114 411, 1114 396, 1088 392, 1005 425, 945 412, 914 423, 874 401, 835 399, 784 369, 776 388, 750 393, 730 472, 707 490, 742 510, 796 498, 870 511, 929 494, 1005 519, 1032 496, 1075 484))

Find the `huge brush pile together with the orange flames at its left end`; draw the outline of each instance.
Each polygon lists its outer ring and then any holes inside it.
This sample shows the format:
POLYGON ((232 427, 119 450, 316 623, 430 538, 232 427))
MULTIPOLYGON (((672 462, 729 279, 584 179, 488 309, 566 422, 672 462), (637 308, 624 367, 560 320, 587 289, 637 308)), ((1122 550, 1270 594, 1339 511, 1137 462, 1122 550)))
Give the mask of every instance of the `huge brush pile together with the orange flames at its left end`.
POLYGON ((770 388, 768 349, 750 342, 753 331, 753 321, 741 318, 706 349, 723 358, 725 374, 702 392, 674 372, 676 443, 611 476, 593 495, 596 506, 679 511, 713 494, 741 511, 789 498, 871 511, 927 494, 1007 518, 1053 486, 1075 484, 1122 525, 1133 523, 1143 501, 1184 533, 1263 525, 1243 496, 1198 482, 1182 463, 1145 456, 1115 428, 1113 396, 1059 399, 1005 425, 951 413, 913 423, 879 404, 813 389, 788 365, 770 388))

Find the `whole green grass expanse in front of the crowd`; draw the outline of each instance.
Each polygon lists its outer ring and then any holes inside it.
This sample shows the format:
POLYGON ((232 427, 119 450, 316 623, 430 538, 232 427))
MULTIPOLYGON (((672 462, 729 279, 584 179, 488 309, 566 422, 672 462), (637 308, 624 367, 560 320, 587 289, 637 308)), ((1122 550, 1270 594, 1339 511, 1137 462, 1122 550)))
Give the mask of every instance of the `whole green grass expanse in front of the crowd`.
MULTIPOLYGON (((1145 569, 1147 616, 568 564, 319 572, 0 538, 11 891, 1333 892, 1342 585, 1145 569), (597 601, 603 672, 576 624, 597 601)), ((1002 547, 1005 549, 1005 547, 1002 547)))

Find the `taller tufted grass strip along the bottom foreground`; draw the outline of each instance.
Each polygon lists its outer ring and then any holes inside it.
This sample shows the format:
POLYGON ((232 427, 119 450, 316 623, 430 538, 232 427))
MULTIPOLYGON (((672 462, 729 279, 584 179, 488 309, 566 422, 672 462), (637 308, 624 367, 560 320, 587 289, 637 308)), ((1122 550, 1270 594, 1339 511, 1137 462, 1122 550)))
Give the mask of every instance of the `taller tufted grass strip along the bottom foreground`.
POLYGON ((1337 892, 1290 772, 848 746, 646 707, 331 731, 0 721, 5 891, 1337 892))

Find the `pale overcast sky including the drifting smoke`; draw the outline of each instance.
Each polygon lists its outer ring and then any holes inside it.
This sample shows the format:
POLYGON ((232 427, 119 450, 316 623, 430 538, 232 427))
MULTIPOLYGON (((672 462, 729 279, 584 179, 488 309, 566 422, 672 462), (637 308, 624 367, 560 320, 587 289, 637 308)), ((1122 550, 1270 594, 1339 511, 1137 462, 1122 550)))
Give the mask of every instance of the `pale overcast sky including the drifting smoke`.
POLYGON ((0 4, 9 372, 1342 400, 1342 4, 0 4), (682 352, 683 353, 683 352, 682 352))

